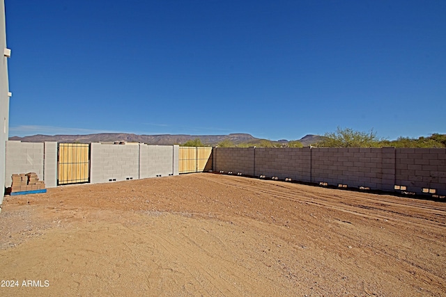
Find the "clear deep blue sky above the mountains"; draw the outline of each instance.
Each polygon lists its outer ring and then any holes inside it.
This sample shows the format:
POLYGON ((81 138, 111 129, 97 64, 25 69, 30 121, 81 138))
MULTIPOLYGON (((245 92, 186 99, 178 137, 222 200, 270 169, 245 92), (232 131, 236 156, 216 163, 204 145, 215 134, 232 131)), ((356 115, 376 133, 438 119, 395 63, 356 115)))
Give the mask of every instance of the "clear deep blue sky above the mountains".
POLYGON ((6 0, 9 136, 446 133, 446 1, 6 0))

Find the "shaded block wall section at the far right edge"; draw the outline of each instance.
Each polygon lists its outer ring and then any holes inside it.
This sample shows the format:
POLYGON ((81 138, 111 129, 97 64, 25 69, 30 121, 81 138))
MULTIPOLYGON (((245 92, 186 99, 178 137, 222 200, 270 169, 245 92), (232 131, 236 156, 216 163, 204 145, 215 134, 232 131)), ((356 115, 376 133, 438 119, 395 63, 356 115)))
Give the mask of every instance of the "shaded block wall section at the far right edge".
POLYGON ((446 148, 397 148, 395 155, 395 184, 410 192, 430 188, 446 195, 446 148))

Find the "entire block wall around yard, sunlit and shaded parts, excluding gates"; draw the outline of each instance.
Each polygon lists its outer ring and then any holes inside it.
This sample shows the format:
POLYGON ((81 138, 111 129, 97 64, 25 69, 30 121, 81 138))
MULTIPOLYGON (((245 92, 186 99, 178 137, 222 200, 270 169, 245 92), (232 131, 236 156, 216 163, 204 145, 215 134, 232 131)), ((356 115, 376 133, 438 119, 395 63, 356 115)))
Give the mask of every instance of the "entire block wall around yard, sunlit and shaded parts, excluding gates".
MULTIPOLYGON (((91 183, 178 175, 178 145, 91 144, 91 183)), ((213 170, 300 182, 446 195, 446 149, 215 147, 213 170)), ((56 186, 57 143, 6 142, 5 186, 14 173, 36 172, 56 186)))

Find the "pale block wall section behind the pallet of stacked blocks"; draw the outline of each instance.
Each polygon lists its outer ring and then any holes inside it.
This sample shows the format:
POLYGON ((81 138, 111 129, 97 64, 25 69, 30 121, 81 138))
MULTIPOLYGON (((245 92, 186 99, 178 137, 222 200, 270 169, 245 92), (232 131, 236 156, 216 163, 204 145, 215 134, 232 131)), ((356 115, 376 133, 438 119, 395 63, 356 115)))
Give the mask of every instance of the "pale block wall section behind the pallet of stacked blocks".
POLYGON ((44 180, 44 145, 43 143, 22 143, 6 141, 5 187, 11 186, 11 175, 36 172, 40 180, 44 180))

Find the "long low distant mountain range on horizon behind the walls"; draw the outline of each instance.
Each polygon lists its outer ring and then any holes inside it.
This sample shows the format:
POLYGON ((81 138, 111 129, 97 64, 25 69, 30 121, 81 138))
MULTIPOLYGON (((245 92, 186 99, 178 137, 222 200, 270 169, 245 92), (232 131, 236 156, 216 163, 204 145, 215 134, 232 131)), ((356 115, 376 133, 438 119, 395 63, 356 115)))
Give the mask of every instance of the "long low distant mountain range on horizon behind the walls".
MULTIPOLYGON (((307 135, 300 141, 304 146, 315 143, 321 136, 307 135)), ((173 145, 182 144, 199 138, 204 145, 217 145, 222 141, 229 140, 233 144, 252 143, 255 145, 262 138, 256 138, 250 134, 237 133, 229 135, 187 135, 187 134, 160 134, 160 135, 137 135, 127 133, 100 133, 87 135, 33 135, 10 137, 10 141, 22 141, 26 143, 43 143, 44 141, 55 141, 58 143, 107 143, 114 141, 127 141, 128 143, 148 143, 151 145, 173 145)), ((272 141, 273 143, 288 143, 286 140, 272 141)))

